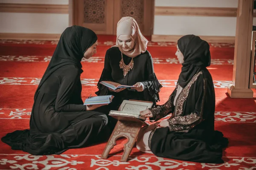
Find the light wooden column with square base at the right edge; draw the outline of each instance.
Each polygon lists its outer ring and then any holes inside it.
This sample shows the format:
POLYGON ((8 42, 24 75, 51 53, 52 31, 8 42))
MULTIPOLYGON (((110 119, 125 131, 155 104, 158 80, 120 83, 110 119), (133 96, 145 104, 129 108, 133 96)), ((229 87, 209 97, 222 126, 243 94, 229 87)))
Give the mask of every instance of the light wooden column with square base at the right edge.
POLYGON ((227 93, 232 98, 253 98, 253 91, 249 88, 252 29, 253 0, 239 0, 236 18, 233 84, 227 88, 227 93))

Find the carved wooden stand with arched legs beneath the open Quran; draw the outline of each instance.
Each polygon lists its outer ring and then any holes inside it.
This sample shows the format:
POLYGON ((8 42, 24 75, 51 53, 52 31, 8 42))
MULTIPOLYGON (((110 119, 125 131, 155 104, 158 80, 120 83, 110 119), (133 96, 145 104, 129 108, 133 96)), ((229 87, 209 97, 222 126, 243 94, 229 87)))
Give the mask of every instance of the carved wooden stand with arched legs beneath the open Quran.
MULTIPOLYGON (((138 100, 133 100, 133 101, 138 101, 138 100)), ((116 145, 116 140, 118 138, 125 137, 128 139, 128 142, 124 144, 124 153, 120 161, 126 162, 128 160, 128 157, 131 153, 132 148, 134 147, 137 136, 140 132, 140 128, 143 126, 143 124, 145 125, 143 121, 131 122, 131 121, 119 119, 102 153, 102 156, 101 156, 102 159, 108 158, 108 154, 110 150, 116 145)))

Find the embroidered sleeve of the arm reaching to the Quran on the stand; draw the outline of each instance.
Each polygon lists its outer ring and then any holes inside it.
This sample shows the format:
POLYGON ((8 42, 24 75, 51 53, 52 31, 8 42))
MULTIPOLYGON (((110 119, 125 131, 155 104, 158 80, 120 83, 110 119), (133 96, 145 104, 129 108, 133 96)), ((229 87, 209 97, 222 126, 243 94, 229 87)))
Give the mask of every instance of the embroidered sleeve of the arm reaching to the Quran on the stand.
POLYGON ((173 99, 174 99, 174 92, 171 96, 169 96, 169 99, 167 102, 163 105, 156 105, 155 108, 149 108, 149 110, 153 114, 153 120, 157 121, 159 119, 162 119, 163 117, 167 116, 169 113, 173 112, 173 99))

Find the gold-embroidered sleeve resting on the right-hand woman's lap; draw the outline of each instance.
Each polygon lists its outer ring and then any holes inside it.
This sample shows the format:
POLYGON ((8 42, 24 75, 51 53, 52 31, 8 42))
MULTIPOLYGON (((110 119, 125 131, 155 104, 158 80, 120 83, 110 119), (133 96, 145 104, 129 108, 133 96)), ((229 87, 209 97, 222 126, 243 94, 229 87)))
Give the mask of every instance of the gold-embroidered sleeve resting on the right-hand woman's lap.
POLYGON ((171 132, 188 132, 190 129, 202 122, 205 94, 207 91, 207 79, 204 79, 204 83, 200 83, 197 89, 202 90, 198 93, 198 99, 195 102, 195 111, 185 116, 175 116, 168 119, 169 130, 171 132))

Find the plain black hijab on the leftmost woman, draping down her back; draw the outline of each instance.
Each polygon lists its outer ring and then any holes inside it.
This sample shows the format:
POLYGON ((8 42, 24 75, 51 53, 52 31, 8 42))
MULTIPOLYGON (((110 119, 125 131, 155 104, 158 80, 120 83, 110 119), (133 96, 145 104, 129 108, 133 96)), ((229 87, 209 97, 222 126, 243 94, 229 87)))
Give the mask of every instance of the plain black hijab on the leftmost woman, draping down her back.
POLYGON ((96 40, 96 34, 88 28, 81 26, 71 26, 66 28, 61 34, 58 45, 52 55, 52 59, 38 85, 34 100, 43 83, 58 68, 72 64, 76 65, 82 73, 81 59, 84 56, 84 52, 90 48, 96 40))

